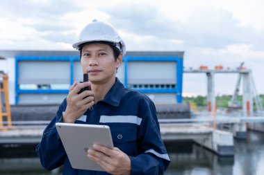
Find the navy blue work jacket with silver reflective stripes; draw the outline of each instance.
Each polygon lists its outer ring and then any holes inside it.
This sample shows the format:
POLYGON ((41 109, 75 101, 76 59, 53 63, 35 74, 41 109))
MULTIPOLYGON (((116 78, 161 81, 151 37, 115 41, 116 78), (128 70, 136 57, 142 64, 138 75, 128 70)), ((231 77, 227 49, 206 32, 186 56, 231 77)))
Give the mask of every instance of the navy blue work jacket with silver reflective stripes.
MULTIPOLYGON (((108 174, 83 169, 73 169, 58 136, 55 124, 62 122, 66 99, 60 104, 56 117, 44 129, 42 140, 36 147, 40 162, 45 169, 63 165, 63 174, 108 174)), ((115 147, 131 159, 131 175, 164 174, 170 163, 165 145, 160 137, 160 127, 154 103, 147 95, 125 89, 116 78, 106 97, 88 109, 76 123, 108 125, 115 147), (120 137, 120 135, 122 137, 120 137)))

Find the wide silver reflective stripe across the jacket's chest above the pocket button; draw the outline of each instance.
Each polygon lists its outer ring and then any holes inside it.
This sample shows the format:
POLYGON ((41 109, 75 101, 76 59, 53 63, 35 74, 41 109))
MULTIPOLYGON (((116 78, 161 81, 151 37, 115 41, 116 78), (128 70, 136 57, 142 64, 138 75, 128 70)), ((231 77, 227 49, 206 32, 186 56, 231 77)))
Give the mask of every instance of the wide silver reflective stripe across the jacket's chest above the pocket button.
POLYGON ((137 116, 101 116, 99 122, 126 122, 140 125, 141 121, 142 118, 138 118, 137 116))

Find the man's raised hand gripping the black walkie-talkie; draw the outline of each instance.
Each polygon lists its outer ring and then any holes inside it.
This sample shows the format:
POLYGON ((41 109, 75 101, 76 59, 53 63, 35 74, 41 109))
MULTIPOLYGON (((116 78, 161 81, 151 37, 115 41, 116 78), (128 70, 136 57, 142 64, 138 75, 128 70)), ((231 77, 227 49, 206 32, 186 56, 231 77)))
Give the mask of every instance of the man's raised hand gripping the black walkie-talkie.
POLYGON ((63 122, 74 123, 77 118, 83 116, 83 113, 94 105, 94 92, 93 91, 81 91, 87 86, 91 86, 90 82, 83 82, 74 84, 69 88, 69 94, 67 96, 67 108, 63 114, 63 122))

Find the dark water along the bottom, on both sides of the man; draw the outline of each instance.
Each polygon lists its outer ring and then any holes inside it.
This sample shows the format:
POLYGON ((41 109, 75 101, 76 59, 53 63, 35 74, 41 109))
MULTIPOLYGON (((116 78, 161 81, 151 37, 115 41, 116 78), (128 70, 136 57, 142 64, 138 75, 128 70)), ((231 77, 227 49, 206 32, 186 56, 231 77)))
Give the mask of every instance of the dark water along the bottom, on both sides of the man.
MULTIPOLYGON (((166 175, 263 175, 264 133, 248 131, 247 140, 234 140, 235 156, 220 157, 193 142, 166 143, 172 160, 166 175)), ((0 149, 0 174, 60 174, 45 171, 34 145, 0 149)))

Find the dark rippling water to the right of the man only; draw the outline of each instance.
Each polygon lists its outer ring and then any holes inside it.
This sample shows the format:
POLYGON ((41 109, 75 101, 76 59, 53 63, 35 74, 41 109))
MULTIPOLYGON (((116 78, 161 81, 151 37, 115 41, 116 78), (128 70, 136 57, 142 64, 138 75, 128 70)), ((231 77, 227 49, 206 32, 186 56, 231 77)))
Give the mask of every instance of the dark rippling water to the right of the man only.
POLYGON ((231 157, 217 156, 196 144, 167 144, 172 163, 166 175, 263 175, 264 133, 248 131, 247 140, 234 140, 234 144, 231 157))

